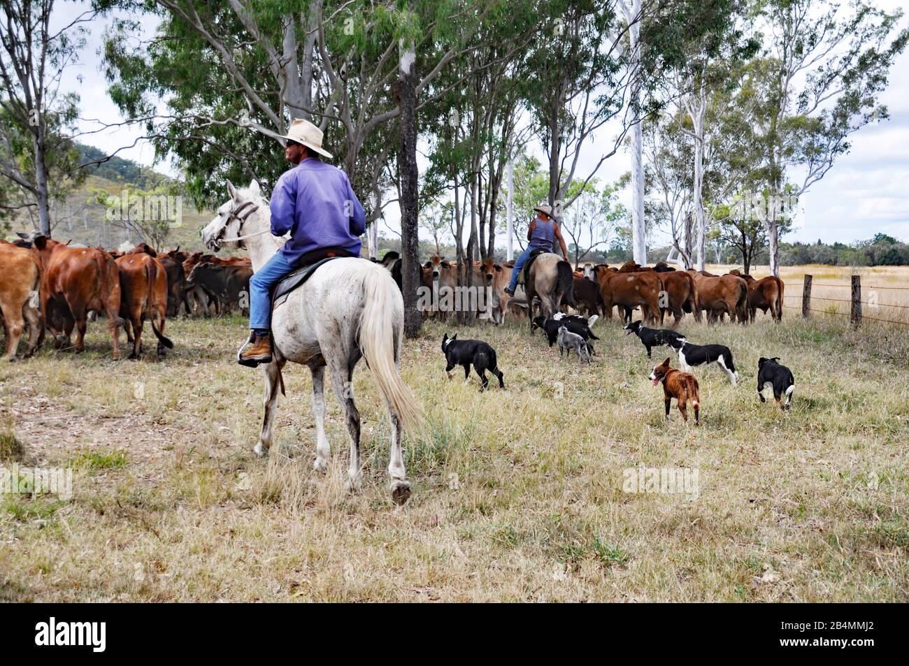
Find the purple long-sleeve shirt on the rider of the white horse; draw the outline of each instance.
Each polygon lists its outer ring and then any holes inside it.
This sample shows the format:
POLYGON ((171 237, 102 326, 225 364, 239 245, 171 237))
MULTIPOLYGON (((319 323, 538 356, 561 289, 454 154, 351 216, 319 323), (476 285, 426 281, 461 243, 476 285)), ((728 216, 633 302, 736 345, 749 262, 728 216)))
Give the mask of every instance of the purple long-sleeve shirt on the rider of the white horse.
POLYGON ((331 164, 307 158, 278 178, 272 193, 272 234, 290 232, 280 252, 288 263, 323 247, 360 254, 366 216, 347 180, 331 164))

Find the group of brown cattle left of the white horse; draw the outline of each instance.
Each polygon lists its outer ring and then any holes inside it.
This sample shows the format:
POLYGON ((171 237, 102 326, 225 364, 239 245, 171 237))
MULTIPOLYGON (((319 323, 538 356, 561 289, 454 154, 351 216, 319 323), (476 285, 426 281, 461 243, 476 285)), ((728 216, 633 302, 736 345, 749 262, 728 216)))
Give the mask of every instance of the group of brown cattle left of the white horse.
POLYGON ((174 344, 165 336, 167 317, 248 309, 248 258, 222 259, 214 254, 156 253, 145 243, 128 253, 100 247, 74 247, 35 236, 0 240, 0 320, 6 349, 0 360, 15 359, 28 329, 25 358, 35 353, 45 328, 58 349, 85 349, 85 330, 93 313, 105 313, 120 358, 119 329, 132 343, 130 358, 141 352, 143 324, 152 325, 157 352, 174 344), (75 344, 71 343, 75 329, 75 344))

